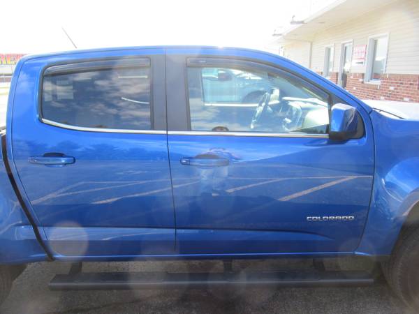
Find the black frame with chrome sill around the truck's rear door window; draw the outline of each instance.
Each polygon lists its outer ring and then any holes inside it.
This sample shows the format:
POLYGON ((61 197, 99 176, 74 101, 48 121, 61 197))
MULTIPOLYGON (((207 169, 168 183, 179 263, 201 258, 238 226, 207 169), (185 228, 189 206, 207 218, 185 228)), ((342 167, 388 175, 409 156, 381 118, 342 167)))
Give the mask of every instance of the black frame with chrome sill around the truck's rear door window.
MULTIPOLYGON (((156 121, 154 119, 155 99, 154 99, 154 64, 153 58, 148 55, 133 55, 124 57, 104 57, 94 59, 78 59, 71 61, 61 61, 57 63, 49 63, 41 70, 39 86, 38 86, 38 105, 37 119, 42 124, 65 128, 68 130, 77 130, 85 132, 97 133, 132 133, 132 134, 166 134, 166 130, 156 130, 156 121), (90 72, 94 70, 109 70, 112 68, 149 68, 150 82, 150 128, 149 129, 123 129, 123 128, 91 128, 88 126, 73 126, 71 124, 61 124, 43 117, 43 82, 47 75, 72 74, 90 72)), ((166 104, 165 104, 166 105, 166 104)))

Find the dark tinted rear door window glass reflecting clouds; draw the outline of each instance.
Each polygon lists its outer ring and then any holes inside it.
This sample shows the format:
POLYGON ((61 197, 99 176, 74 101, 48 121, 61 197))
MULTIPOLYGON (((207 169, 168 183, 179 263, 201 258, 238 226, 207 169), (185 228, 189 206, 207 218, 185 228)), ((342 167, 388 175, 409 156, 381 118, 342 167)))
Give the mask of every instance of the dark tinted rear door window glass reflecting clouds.
POLYGON ((149 68, 108 68, 43 78, 43 118, 89 128, 147 130, 149 68))

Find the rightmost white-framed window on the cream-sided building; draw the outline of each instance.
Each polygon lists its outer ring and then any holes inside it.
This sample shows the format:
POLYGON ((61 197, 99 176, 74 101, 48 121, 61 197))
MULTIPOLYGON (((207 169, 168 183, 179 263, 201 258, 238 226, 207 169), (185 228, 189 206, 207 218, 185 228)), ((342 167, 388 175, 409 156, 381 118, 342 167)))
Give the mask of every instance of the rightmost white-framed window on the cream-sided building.
POLYGON ((367 82, 380 82, 385 72, 387 61, 388 36, 374 36, 368 40, 368 57, 365 80, 367 82))

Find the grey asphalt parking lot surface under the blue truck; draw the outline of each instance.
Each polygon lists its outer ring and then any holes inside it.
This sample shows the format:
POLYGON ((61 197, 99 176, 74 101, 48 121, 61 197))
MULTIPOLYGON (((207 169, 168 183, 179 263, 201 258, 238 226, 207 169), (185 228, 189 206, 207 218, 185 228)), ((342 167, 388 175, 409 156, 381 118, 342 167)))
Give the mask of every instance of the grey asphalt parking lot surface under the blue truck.
MULTIPOLYGON (((267 262, 241 262, 264 267, 267 262)), ((235 265, 235 264, 233 264, 235 265)), ((66 274, 64 263, 31 264, 15 281, 0 313, 413 313, 378 282, 369 287, 311 287, 220 290, 50 291, 54 274, 66 274)), ((234 266, 236 267, 236 266, 234 266)), ((84 271, 209 271, 221 262, 89 263, 84 271)))

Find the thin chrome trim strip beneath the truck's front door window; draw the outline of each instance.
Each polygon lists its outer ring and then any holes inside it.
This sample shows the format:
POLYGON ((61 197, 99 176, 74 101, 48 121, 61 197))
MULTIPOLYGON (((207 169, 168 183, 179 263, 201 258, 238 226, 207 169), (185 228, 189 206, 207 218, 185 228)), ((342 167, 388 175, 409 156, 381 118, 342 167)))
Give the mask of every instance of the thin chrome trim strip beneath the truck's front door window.
POLYGON ((240 136, 240 137, 309 137, 329 138, 328 134, 313 133, 263 133, 263 132, 216 132, 216 131, 168 131, 168 135, 214 135, 214 136, 240 136))

